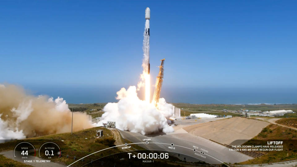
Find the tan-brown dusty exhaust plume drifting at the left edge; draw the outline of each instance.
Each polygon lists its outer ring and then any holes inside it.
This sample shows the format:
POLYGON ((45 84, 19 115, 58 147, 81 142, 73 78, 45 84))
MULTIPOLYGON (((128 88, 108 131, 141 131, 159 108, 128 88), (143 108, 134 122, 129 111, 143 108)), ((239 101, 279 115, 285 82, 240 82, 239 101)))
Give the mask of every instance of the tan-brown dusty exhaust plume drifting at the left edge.
MULTIPOLYGON (((0 84, 0 139, 24 139, 71 131, 72 113, 63 98, 27 95, 0 84)), ((85 113, 73 113, 73 130, 93 127, 85 113)))

